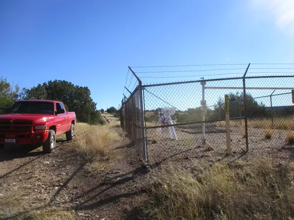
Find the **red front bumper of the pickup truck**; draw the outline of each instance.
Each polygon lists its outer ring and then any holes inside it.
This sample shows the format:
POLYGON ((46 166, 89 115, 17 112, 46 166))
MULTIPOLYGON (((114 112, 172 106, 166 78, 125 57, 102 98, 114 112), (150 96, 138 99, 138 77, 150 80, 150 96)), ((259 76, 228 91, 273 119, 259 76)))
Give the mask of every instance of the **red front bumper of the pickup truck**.
POLYGON ((48 137, 48 130, 35 132, 0 132, 0 144, 5 143, 6 139, 13 140, 13 144, 40 144, 46 141, 48 137))

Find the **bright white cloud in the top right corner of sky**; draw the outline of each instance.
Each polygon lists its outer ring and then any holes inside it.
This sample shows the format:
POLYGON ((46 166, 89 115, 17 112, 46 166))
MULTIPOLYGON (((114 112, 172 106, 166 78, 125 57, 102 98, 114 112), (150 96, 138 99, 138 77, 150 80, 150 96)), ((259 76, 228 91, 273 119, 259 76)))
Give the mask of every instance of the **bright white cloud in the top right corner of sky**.
POLYGON ((273 17, 281 30, 294 31, 294 0, 250 0, 253 6, 273 17))

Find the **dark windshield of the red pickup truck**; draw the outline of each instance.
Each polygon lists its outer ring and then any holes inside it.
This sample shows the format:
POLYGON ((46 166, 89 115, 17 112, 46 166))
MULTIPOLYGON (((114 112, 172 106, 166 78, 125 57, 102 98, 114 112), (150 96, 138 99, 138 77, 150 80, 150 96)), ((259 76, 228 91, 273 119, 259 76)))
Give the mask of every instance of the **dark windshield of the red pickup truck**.
POLYGON ((16 102, 9 113, 54 114, 52 102, 16 102))

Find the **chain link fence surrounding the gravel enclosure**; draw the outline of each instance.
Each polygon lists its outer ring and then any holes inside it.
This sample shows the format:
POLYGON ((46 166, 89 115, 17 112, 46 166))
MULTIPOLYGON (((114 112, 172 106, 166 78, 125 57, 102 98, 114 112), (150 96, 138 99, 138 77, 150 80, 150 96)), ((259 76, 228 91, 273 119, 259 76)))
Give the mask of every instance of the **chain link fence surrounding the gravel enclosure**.
POLYGON ((139 81, 122 103, 121 125, 148 162, 190 157, 219 160, 250 148, 283 147, 292 136, 294 142, 293 85, 294 76, 155 85, 139 81))

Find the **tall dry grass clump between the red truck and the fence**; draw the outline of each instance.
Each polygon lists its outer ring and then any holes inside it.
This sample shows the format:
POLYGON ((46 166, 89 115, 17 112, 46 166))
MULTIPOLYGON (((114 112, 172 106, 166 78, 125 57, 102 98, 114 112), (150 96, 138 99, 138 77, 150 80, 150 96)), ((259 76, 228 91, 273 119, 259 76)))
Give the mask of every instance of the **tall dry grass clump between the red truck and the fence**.
POLYGON ((92 126, 77 123, 77 135, 74 145, 80 158, 87 163, 89 171, 94 172, 107 168, 105 161, 114 158, 112 143, 119 140, 116 132, 108 126, 92 126))

